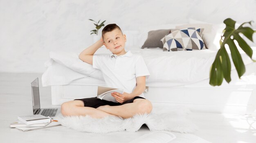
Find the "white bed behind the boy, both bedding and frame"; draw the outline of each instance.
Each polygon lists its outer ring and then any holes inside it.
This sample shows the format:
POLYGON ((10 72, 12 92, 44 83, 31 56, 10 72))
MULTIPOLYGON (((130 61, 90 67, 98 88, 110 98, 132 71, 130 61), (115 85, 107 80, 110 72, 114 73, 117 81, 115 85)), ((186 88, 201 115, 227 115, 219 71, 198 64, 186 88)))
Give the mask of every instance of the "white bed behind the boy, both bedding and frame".
MULTIPOLYGON (((163 52, 160 48, 126 48, 141 54, 150 72, 145 97, 153 103, 179 104, 191 111, 255 114, 256 63, 241 52, 247 72, 238 79, 232 65, 230 84, 209 85, 209 70, 216 51, 163 52)), ((95 54, 108 53, 100 48, 95 54)), ((52 104, 95 97, 97 85, 104 85, 101 72, 78 58, 79 53, 51 52, 45 63, 43 86, 52 87, 52 104), (75 72, 76 71, 76 72, 75 72)))

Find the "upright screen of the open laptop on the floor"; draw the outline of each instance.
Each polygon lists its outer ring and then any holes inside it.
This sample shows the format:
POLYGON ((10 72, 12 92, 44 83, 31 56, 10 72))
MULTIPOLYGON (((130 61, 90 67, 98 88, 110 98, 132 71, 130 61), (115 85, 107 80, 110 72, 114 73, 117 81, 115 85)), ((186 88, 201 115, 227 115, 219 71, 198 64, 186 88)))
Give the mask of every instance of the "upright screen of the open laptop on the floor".
POLYGON ((33 113, 35 114, 34 111, 40 109, 38 78, 36 78, 33 82, 31 82, 31 90, 32 90, 33 113))

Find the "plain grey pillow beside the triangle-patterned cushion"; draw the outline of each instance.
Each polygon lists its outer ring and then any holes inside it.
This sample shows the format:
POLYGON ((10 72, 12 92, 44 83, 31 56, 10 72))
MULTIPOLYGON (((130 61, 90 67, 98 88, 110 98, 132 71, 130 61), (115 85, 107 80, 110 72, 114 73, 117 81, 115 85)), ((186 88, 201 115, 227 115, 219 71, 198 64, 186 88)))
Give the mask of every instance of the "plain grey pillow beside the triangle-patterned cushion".
POLYGON ((142 45, 142 49, 144 48, 164 48, 163 42, 161 41, 164 36, 170 34, 171 29, 159 29, 152 30, 148 32, 148 38, 142 45))

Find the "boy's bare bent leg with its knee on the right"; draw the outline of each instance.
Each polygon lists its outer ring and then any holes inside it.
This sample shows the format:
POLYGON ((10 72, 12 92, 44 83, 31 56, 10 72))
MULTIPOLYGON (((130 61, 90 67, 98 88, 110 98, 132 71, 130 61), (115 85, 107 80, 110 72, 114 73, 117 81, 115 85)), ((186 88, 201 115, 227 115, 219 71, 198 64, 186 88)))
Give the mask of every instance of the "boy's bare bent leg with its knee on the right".
POLYGON ((135 114, 149 114, 152 111, 152 104, 148 100, 137 98, 133 101, 133 103, 127 103, 120 106, 105 105, 99 106, 97 109, 112 115, 130 118, 135 114))

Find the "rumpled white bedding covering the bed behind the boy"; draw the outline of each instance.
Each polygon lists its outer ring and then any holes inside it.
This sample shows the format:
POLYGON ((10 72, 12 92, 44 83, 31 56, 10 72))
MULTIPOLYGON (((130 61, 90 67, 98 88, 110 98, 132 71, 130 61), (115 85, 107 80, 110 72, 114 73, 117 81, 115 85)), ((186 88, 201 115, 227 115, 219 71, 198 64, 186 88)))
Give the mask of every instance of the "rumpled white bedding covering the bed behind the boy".
MULTIPOLYGON (((147 85, 171 87, 187 85, 209 78, 209 71, 216 51, 195 50, 163 52, 160 48, 141 49, 138 47, 126 48, 133 54, 140 54, 150 72, 147 85)), ((95 54, 110 53, 106 48, 100 48, 95 54)), ((252 63, 251 59, 241 52, 245 65, 252 63)), ((43 86, 68 85, 73 80, 92 77, 103 80, 102 73, 92 65, 81 61, 79 53, 50 52, 49 61, 45 62, 46 71, 42 76, 43 86)), ((231 65, 234 69, 234 65, 231 65)))

